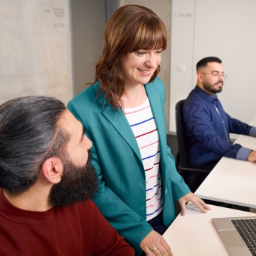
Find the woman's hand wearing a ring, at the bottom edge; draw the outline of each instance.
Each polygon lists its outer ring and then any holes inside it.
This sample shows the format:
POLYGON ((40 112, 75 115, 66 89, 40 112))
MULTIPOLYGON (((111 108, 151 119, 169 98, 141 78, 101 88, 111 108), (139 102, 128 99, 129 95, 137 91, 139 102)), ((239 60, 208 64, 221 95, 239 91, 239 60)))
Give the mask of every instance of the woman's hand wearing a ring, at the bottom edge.
POLYGON ((154 230, 141 241, 140 247, 148 256, 153 256, 153 254, 156 256, 172 256, 171 247, 161 234, 154 230))

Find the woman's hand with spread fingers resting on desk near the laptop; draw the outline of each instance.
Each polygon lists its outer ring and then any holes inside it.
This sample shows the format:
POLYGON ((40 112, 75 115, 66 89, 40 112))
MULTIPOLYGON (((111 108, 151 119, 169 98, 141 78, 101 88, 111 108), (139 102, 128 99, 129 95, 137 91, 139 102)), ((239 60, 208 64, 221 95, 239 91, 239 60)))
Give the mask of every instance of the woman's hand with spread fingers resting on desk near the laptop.
POLYGON ((181 197, 179 200, 179 205, 181 206, 181 215, 184 216, 186 214, 186 203, 192 202, 197 208, 201 210, 201 212, 207 213, 207 210, 210 210, 209 207, 205 202, 200 199, 198 196, 190 192, 185 196, 181 197))

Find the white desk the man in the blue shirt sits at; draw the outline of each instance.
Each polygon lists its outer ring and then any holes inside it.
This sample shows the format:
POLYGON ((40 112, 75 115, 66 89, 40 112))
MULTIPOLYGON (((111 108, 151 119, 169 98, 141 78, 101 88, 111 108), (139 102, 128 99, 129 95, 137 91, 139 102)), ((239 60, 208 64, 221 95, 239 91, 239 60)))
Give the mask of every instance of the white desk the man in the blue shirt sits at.
MULTIPOLYGON (((250 125, 256 126, 256 117, 250 125)), ((241 135, 235 143, 256 150, 256 138, 241 135)), ((256 208, 256 163, 223 157, 195 194, 202 199, 256 208)))

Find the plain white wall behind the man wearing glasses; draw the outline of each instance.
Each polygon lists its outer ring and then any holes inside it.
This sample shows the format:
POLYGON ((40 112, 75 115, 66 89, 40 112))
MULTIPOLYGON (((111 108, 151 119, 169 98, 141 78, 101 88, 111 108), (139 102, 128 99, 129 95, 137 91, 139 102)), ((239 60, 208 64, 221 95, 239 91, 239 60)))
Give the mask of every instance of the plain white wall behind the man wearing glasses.
POLYGON ((222 60, 227 80, 218 94, 224 110, 245 123, 256 115, 256 1, 172 0, 169 130, 175 105, 196 85, 196 63, 222 60))

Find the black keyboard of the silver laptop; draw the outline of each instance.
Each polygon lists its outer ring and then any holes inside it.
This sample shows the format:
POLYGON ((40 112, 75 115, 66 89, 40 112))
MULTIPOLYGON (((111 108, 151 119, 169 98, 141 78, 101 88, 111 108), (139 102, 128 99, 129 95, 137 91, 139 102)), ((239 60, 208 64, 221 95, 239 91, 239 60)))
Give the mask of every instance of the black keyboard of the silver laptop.
POLYGON ((253 256, 256 256, 256 218, 231 219, 253 256))

